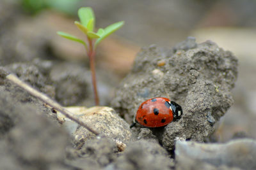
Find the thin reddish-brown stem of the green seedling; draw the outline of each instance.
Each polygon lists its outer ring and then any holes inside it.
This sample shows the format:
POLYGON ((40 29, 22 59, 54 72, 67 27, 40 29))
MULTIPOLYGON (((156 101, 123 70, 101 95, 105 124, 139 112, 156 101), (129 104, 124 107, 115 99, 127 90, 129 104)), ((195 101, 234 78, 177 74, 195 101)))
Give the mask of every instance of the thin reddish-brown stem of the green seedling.
POLYGON ((88 57, 90 59, 90 69, 91 69, 91 74, 92 74, 94 100, 95 100, 95 105, 97 106, 97 105, 99 105, 99 96, 98 96, 97 80, 96 80, 96 72, 95 72, 95 50, 93 50, 92 39, 88 38, 88 42, 89 42, 88 57))

